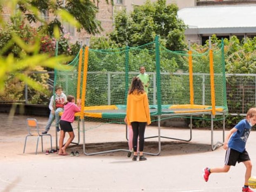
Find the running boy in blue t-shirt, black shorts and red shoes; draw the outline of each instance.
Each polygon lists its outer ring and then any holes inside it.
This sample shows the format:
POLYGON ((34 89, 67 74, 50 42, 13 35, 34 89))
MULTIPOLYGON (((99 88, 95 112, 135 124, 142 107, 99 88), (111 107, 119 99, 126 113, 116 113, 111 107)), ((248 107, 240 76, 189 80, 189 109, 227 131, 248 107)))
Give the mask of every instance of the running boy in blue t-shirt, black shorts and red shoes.
POLYGON ((226 173, 230 166, 235 166, 238 162, 243 162, 246 167, 244 187, 242 192, 253 192, 248 187, 248 180, 251 177, 251 160, 245 149, 245 144, 249 137, 251 127, 256 124, 256 108, 251 108, 247 112, 246 119, 241 120, 232 128, 225 138, 223 148, 226 150, 225 165, 216 168, 204 168, 204 180, 207 182, 211 173, 226 173))

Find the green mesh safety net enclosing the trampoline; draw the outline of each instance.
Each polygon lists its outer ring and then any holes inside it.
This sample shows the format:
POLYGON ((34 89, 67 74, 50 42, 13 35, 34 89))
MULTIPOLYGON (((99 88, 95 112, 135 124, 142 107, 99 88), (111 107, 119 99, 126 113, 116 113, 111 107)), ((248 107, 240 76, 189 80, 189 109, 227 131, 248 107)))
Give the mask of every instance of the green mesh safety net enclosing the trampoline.
MULTIPOLYGON (((227 110, 225 63, 223 44, 213 50, 214 88, 216 107, 227 110)), ((78 88, 79 53, 69 64, 69 70, 55 71, 55 85, 61 85, 66 95, 76 97, 83 92, 84 54, 82 55, 81 86, 78 88)), ((88 70, 85 88, 85 128, 102 123, 123 123, 126 115, 126 98, 130 82, 145 66, 150 84, 148 99, 152 121, 157 115, 173 114, 176 109, 164 106, 190 104, 189 55, 187 51, 173 52, 154 42, 139 47, 93 50, 88 53, 88 70), (91 108, 88 108, 91 107, 91 108)), ((195 105, 211 106, 209 51, 192 52, 193 93, 195 105)), ((187 110, 187 109, 186 109, 187 110)), ((78 119, 79 117, 77 117, 78 119)), ((165 117, 166 118, 166 117, 165 117)))

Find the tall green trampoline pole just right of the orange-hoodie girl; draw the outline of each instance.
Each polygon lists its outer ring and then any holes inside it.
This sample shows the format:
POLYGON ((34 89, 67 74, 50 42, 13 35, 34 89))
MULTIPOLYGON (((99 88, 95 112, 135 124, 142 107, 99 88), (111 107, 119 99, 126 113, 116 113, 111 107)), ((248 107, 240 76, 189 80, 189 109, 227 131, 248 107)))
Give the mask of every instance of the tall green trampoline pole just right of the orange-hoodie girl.
POLYGON ((161 104, 161 76, 160 76, 160 50, 159 50, 159 37, 155 38, 156 44, 156 100, 157 100, 157 112, 158 115, 162 114, 161 104))

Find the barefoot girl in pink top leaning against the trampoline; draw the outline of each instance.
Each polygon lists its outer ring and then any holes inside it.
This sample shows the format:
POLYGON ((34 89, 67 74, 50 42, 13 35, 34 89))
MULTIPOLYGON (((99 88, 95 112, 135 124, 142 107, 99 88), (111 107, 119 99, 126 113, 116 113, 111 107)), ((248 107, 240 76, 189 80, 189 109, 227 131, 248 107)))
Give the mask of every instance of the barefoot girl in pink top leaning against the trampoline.
POLYGON ((67 155, 66 148, 75 138, 73 128, 71 123, 75 119, 75 113, 81 111, 81 100, 77 100, 77 105, 75 104, 75 98, 72 95, 67 97, 67 102, 64 103, 64 112, 62 114, 61 120, 59 121, 60 125, 60 137, 59 137, 59 155, 67 155), (64 138, 66 132, 69 133, 69 139, 66 141, 66 144, 63 146, 64 138))

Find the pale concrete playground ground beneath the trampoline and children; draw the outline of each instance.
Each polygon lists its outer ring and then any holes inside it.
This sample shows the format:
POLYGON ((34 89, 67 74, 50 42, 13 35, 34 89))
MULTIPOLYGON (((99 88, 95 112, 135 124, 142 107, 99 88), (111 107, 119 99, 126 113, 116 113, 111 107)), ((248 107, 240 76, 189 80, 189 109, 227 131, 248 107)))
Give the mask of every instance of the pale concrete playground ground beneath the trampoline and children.
MULTIPOLYGON (((47 117, 33 117, 43 130, 47 117)), ((0 191, 1 192, 241 192, 245 167, 237 164, 228 173, 212 174, 206 183, 202 169, 223 166, 225 150, 211 151, 210 130, 193 130, 192 141, 178 142, 161 139, 159 156, 147 156, 147 161, 132 161, 127 152, 95 156, 83 154, 83 145, 71 145, 80 156, 45 155, 39 145, 35 155, 36 137, 29 138, 23 154, 26 118, 0 114, 0 191)), ((55 130, 53 136, 55 148, 55 130)), ((77 132, 75 131, 77 141, 77 132)), ((146 136, 157 134, 148 126, 146 136)), ((189 129, 162 128, 161 135, 187 139, 189 129)), ((82 136, 82 133, 81 133, 82 136)), ((222 132, 214 132, 214 141, 222 141, 222 132)), ((82 141, 82 137, 81 137, 82 141)), ((80 141, 80 143, 81 143, 80 141)), ((252 163, 256 161, 256 132, 250 133, 247 151, 252 163)), ((50 142, 44 139, 44 151, 50 142)), ((125 128, 111 125, 86 132, 86 150, 97 152, 126 148, 125 128)), ((157 152, 157 139, 145 141, 145 152, 157 152)), ((256 175, 255 166, 252 175, 256 175)))

